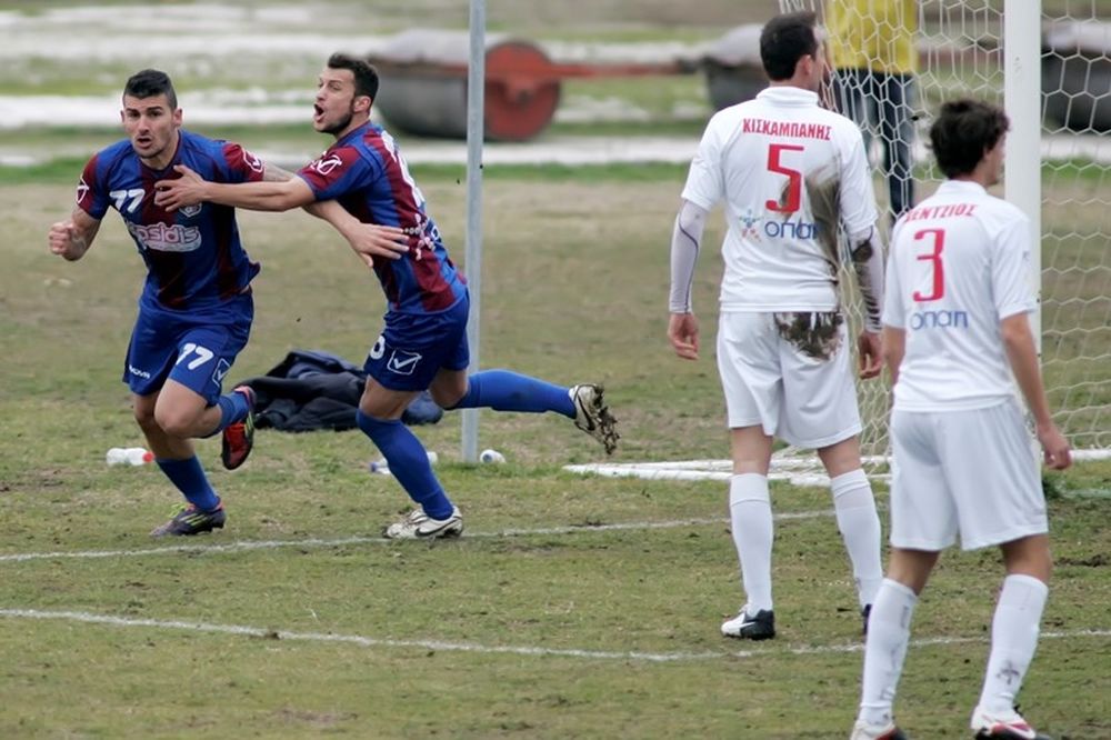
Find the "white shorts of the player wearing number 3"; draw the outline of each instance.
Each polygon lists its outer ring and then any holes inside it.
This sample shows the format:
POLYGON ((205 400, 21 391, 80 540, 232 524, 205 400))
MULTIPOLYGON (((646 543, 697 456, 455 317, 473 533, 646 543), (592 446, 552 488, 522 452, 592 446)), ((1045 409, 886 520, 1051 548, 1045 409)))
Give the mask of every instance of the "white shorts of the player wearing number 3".
POLYGON ((1038 462, 1018 402, 891 414, 891 544, 965 550, 1049 531, 1038 462))

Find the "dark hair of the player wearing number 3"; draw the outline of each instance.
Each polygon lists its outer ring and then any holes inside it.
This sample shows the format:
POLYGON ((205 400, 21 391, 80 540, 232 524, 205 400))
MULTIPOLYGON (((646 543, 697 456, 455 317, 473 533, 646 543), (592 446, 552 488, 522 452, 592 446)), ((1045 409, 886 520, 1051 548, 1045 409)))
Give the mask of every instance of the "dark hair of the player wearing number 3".
POLYGON ((930 148, 947 178, 969 174, 1010 127, 997 106, 969 98, 951 100, 930 126, 930 148))

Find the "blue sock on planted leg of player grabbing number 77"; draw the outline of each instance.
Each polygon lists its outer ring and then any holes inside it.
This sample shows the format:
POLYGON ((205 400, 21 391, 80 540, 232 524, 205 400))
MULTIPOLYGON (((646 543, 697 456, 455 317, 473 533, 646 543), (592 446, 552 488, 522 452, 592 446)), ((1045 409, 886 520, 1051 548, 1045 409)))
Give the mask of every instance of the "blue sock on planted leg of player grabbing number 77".
POLYGON ((378 446, 390 472, 413 501, 432 519, 447 519, 454 507, 432 472, 428 452, 417 436, 397 419, 383 421, 368 417, 362 409, 354 414, 359 429, 378 446))

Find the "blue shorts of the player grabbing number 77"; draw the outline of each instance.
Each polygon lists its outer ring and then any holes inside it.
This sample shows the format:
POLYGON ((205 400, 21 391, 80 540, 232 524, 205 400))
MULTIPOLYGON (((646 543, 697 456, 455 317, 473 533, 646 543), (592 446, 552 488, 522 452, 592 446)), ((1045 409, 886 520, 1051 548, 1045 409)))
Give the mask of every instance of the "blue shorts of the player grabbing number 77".
POLYGON ((363 370, 382 387, 400 391, 426 390, 441 368, 466 370, 471 361, 467 344, 470 306, 464 296, 439 313, 387 313, 363 370))

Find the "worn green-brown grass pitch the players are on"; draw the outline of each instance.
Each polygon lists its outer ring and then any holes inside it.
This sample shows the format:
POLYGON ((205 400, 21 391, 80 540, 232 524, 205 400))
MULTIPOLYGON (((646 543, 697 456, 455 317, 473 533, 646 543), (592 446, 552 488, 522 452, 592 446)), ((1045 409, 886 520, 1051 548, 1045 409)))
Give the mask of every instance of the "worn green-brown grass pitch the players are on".
MULTIPOLYGON (((461 258, 463 187, 417 169, 461 258)), ((617 461, 721 458, 712 357, 667 346, 668 242, 679 168, 490 173, 481 359, 561 383, 607 384, 617 461)), ((119 382, 142 276, 119 219, 78 263, 48 254, 70 184, 0 184, 0 737, 835 738, 855 712, 860 623, 819 489, 775 487, 771 643, 727 642, 740 601, 720 483, 583 478, 602 459, 565 419, 484 412, 459 462, 459 421, 419 428, 468 534, 387 543, 406 507, 371 476, 358 432, 263 431, 218 468, 228 528, 183 543, 147 532, 176 500, 153 469, 108 468, 141 443, 119 382)), ((361 361, 382 299, 329 230, 243 214, 263 263, 233 378, 291 348, 361 361)), ((709 234, 715 244, 720 231, 709 234)), ((714 327, 715 254, 695 306, 714 327)), ((1058 569, 1021 697, 1055 738, 1111 738, 1111 464, 1052 480, 1058 569), (1100 697, 1104 697, 1103 700, 1100 697)), ((885 510, 882 487, 879 500, 885 510)), ((919 608, 899 702, 915 738, 964 737, 979 690, 994 553, 948 554, 919 608)))

